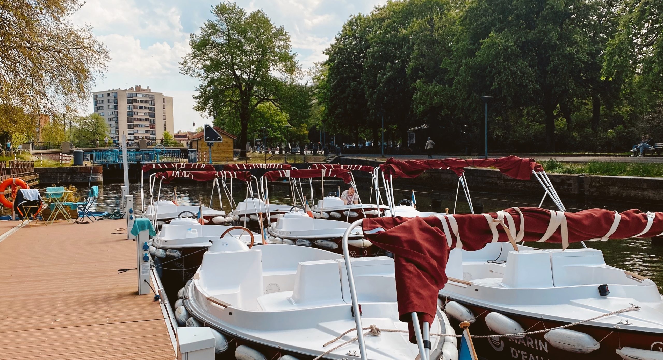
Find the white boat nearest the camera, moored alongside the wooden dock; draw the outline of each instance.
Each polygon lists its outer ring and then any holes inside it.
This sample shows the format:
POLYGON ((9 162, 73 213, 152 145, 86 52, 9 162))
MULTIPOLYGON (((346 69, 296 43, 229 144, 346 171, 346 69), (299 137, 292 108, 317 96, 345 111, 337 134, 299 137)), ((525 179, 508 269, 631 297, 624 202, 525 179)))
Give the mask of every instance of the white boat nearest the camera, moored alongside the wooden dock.
MULTIPOLYGON (((210 327, 219 357, 415 359, 418 345, 398 320, 393 259, 359 258, 351 265, 353 282, 339 254, 283 245, 249 249, 239 239, 219 239, 182 289, 175 317, 180 325, 210 327), (362 322, 373 335, 349 341, 362 322)), ((451 331, 438 312, 430 333, 451 331)), ((431 335, 430 342, 431 360, 457 360, 454 337, 431 335)))

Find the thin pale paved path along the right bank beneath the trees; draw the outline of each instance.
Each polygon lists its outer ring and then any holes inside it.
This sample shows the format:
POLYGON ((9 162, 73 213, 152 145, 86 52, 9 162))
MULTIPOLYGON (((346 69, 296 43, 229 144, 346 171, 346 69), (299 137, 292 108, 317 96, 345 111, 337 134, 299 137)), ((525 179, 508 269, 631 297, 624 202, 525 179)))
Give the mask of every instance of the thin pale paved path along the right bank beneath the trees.
MULTIPOLYGON (((601 156, 601 155, 587 155, 587 156, 571 156, 571 155, 547 155, 547 154, 513 154, 515 156, 520 156, 521 158, 534 158, 537 161, 555 159, 558 161, 564 162, 588 162, 591 160, 599 160, 605 162, 648 162, 648 163, 659 163, 663 164, 663 156, 642 156, 642 157, 631 157, 631 156, 601 156)), ((428 158, 426 155, 387 155, 383 158, 380 154, 345 154, 343 155, 347 158, 369 158, 371 160, 387 160, 390 157, 396 158, 397 160, 415 160, 415 159, 425 159, 428 158)), ((492 157, 501 157, 507 156, 507 154, 495 154, 490 155, 492 157)), ((477 158, 481 156, 458 156, 458 155, 434 155, 433 158, 477 158)))

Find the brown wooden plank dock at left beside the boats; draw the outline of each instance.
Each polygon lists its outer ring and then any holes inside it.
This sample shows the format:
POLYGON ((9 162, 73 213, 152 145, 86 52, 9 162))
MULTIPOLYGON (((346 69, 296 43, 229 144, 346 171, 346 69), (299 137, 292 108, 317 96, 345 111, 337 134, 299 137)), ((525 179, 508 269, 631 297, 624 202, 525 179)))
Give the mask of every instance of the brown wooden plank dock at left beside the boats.
POLYGON ((0 237, 0 359, 175 359, 159 302, 137 295, 136 270, 117 273, 136 267, 136 243, 111 235, 123 227, 61 221, 0 237))

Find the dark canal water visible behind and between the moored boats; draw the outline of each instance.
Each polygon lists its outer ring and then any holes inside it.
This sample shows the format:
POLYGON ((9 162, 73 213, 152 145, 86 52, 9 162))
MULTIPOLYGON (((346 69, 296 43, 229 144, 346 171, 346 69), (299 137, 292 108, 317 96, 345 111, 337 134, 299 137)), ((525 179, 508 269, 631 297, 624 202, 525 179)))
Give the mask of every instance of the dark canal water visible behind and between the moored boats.
MULTIPOLYGON (((97 204, 93 206, 94 210, 99 211, 113 211, 118 209, 121 201, 121 186, 122 184, 103 184, 99 186, 99 198, 97 204)), ((398 184, 396 184, 396 188, 398 184)), ((130 184, 129 185, 131 194, 135 195, 134 204, 136 208, 140 206, 140 184, 130 184)), ((204 206, 210 206, 210 195, 211 195, 211 185, 210 183, 178 183, 171 185, 164 185, 162 188, 162 196, 172 197, 174 188, 176 188, 178 203, 181 205, 198 205, 202 201, 204 206)), ((402 188, 405 188, 402 186, 402 188)), ((235 184, 233 186, 233 198, 235 202, 240 202, 245 199, 245 186, 241 184, 235 184)), ((342 186, 338 188, 336 184, 331 185, 328 182, 325 182, 325 192, 331 191, 341 191, 345 190, 342 186)), ((412 192, 409 189, 412 187, 408 186, 408 190, 398 190, 394 189, 394 195, 396 201, 401 199, 410 199, 412 192)), ((146 187, 147 190, 147 187, 146 187)), ((308 195, 310 192, 308 187, 305 186, 305 195, 308 195)), ((414 188, 417 208, 421 211, 444 211, 445 208, 449 208, 453 212, 454 206, 454 197, 455 189, 444 189, 444 188, 430 188, 418 186, 414 188), (436 202, 433 202, 432 199, 436 199, 436 202), (441 202, 440 202, 441 200, 441 202), (435 204, 434 204, 435 203, 435 204)), ((156 189, 155 198, 156 198, 156 189)), ((512 192, 512 190, 510 190, 512 192)), ((84 198, 86 188, 79 189, 79 195, 84 198)), ((368 202, 369 200, 369 188, 359 186, 359 193, 361 195, 362 202, 368 202)), ((320 187, 316 189, 316 198, 320 197, 320 187)), ((269 190, 270 201, 272 204, 291 204, 292 198, 290 198, 290 191, 286 186, 271 186, 269 190)), ((149 197, 149 195, 146 195, 149 197)), ((480 204, 483 206, 484 212, 504 210, 510 208, 511 206, 538 206, 541 196, 528 196, 528 195, 513 195, 513 194, 500 194, 499 192, 472 192, 471 196, 473 198, 474 204, 480 204)), ((662 205, 644 205, 638 203, 627 203, 627 202, 612 202, 606 200, 592 200, 581 202, 574 199, 564 199, 564 206, 566 206, 568 211, 579 211, 591 208, 604 208, 609 210, 625 211, 629 209, 639 209, 642 211, 663 211, 662 205)), ((146 199, 146 202, 149 202, 149 199, 146 199)), ((229 211, 229 202, 225 198, 222 198, 222 208, 225 211, 229 211)), ((373 201, 375 202, 375 201, 373 201)), ((212 197, 211 208, 219 208, 219 200, 217 194, 215 193, 212 197)), ((544 203, 544 208, 553 208, 552 202, 544 203)), ((477 205, 475 205, 475 210, 477 210, 477 205)), ((460 199, 457 204, 456 213, 469 213, 469 206, 465 198, 463 198, 462 192, 460 194, 460 199)), ((528 244, 530 246, 530 244, 528 244)), ((550 249, 558 247, 558 244, 546 244, 538 243, 538 247, 550 249)), ((580 244, 572 244, 571 247, 580 247, 580 244)), ((659 290, 663 290, 663 241, 652 244, 650 239, 625 239, 625 240, 609 240, 609 241, 592 241, 587 243, 588 247, 593 247, 603 251, 603 256, 605 257, 605 262, 608 265, 618 267, 625 270, 630 270, 647 276, 654 280, 658 284, 659 290)))

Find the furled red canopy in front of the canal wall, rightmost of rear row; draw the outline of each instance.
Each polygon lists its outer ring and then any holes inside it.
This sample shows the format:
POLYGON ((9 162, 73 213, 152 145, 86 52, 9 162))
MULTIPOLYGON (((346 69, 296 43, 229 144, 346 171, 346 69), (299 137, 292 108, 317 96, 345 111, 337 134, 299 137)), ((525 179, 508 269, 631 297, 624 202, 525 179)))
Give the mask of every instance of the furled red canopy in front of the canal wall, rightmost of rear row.
POLYGON ((518 156, 507 156, 505 158, 442 158, 439 160, 394 160, 389 158, 380 165, 385 175, 394 178, 416 178, 428 169, 449 168, 456 175, 461 176, 467 167, 498 168, 503 174, 516 180, 530 180, 532 170, 543 171, 543 166, 534 161, 533 158, 519 158, 518 156))

